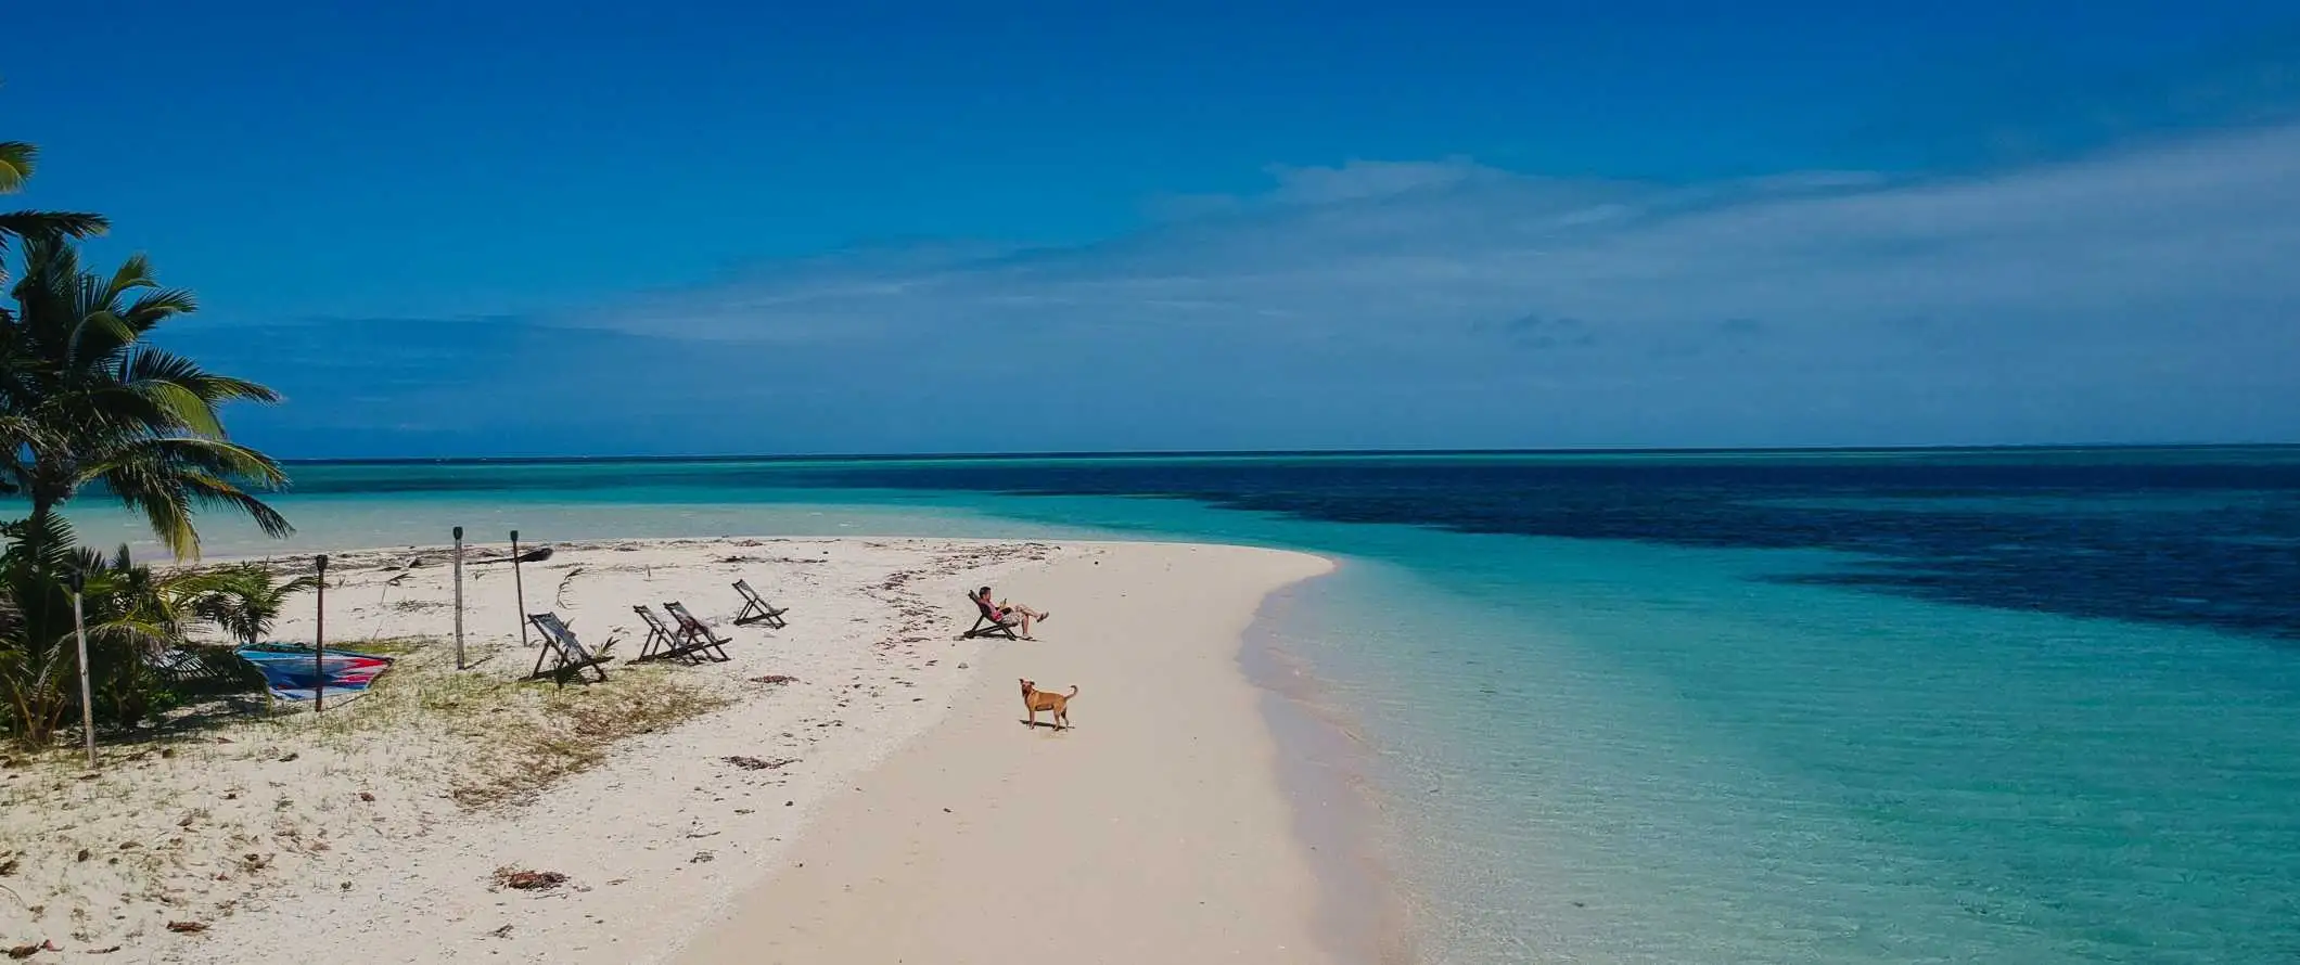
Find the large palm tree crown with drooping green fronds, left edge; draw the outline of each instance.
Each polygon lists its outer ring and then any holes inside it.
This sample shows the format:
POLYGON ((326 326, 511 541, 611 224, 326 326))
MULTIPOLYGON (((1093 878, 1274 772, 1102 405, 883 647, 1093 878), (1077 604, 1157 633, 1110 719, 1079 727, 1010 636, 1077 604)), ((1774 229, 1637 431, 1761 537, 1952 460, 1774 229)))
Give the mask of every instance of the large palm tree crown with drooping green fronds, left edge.
MULTIPOLYGON (((159 287, 143 255, 108 278, 80 269, 60 237, 25 237, 18 315, 0 324, 0 489, 30 501, 28 540, 90 482, 145 515, 177 558, 198 558, 193 512, 221 505, 269 535, 292 528, 246 487, 276 489, 278 462, 228 439, 228 402, 278 402, 255 381, 214 375, 145 340, 195 310, 159 287), (246 485, 246 487, 244 487, 246 485)), ((30 547, 28 558, 46 558, 30 547)))

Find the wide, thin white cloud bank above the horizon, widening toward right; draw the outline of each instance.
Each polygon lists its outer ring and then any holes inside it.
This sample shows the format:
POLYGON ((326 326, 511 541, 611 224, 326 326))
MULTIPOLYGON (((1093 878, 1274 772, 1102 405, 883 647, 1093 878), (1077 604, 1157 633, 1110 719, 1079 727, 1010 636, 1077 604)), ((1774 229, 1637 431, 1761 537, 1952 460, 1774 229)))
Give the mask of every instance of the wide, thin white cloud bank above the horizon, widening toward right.
MULTIPOLYGON (((2300 126, 1953 182, 1274 179, 1104 244, 789 262, 550 324, 695 356, 697 407, 839 427, 699 448, 2300 439, 2300 126)), ((573 375, 614 386, 614 345, 573 375)))

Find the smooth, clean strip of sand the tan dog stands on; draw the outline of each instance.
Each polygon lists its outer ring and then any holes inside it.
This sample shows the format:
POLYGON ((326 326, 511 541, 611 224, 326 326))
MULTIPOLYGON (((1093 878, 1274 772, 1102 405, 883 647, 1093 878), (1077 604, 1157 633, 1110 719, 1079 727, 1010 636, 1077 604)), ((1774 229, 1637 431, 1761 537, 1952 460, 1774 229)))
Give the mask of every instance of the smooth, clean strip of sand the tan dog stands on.
POLYGON ((1090 563, 1028 584, 1076 636, 987 653, 943 726, 858 779, 676 960, 1329 960, 1237 669, 1263 595, 1327 563, 1182 545, 1090 563), (1017 678, 1079 685, 1076 728, 1026 731, 1017 678))

